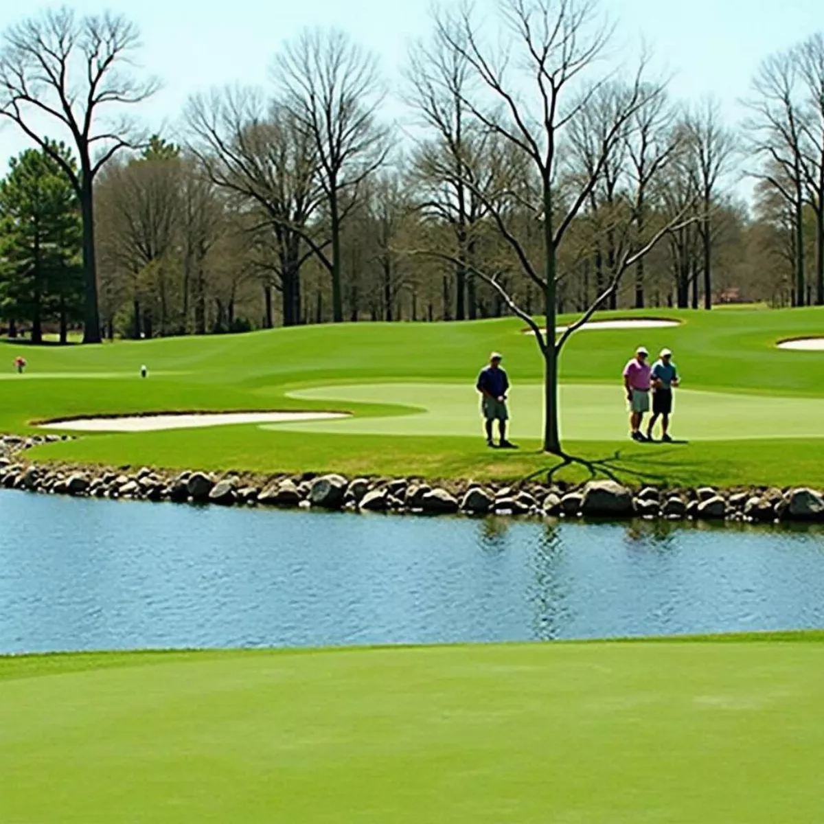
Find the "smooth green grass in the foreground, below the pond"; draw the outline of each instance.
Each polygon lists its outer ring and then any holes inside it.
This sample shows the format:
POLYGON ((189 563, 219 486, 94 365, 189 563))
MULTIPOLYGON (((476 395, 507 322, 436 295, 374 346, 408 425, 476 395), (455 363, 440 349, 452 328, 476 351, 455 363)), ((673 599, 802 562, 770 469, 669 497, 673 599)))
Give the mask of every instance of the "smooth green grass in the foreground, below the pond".
POLYGON ((820 634, 0 659, 0 814, 809 824, 820 634))

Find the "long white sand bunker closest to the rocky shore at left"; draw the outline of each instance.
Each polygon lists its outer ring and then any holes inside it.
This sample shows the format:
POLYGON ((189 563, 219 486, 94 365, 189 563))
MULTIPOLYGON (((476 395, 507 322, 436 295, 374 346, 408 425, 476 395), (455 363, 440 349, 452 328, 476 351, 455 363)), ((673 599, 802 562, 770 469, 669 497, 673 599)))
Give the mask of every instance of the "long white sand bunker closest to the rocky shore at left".
POLYGON ((225 412, 219 414, 153 414, 122 418, 78 418, 53 420, 42 429, 73 432, 159 432, 162 429, 191 429, 229 424, 295 424, 313 420, 348 418, 339 412, 225 412))

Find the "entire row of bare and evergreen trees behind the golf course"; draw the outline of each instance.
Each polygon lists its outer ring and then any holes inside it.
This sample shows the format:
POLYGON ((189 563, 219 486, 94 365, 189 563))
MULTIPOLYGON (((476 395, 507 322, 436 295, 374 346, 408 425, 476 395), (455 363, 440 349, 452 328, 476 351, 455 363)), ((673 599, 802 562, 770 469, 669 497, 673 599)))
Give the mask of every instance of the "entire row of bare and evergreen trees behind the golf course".
POLYGON ((307 30, 266 87, 192 96, 153 136, 133 110, 159 84, 127 18, 10 27, 0 120, 34 147, 0 184, 2 325, 97 342, 824 303, 822 35, 765 59, 733 128, 709 96, 673 100, 645 54, 602 65, 595 2, 500 8, 503 40, 469 8, 436 13, 391 95, 349 35, 307 30))

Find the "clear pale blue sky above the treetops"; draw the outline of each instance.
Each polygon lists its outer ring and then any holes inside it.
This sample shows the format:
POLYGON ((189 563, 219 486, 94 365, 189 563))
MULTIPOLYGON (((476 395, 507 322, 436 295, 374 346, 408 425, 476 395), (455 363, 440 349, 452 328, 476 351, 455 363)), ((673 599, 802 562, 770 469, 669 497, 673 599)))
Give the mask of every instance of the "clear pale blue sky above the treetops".
MULTIPOLYGON (((489 7, 494 0, 480 0, 489 7)), ((430 28, 431 0, 87 0, 78 13, 110 8, 124 12, 143 33, 143 63, 164 88, 143 105, 152 124, 174 122, 187 96, 227 82, 265 83, 279 44, 304 26, 340 26, 377 52, 393 85, 410 40, 430 28)), ((25 7, 0 3, 0 29, 20 19, 25 7)), ((713 93, 731 122, 737 100, 767 54, 784 49, 824 26, 821 0, 602 0, 619 25, 617 45, 631 60, 640 38, 657 62, 675 74, 672 95, 685 100, 713 93)), ((394 84, 396 85, 396 83, 394 84)), ((57 137, 57 135, 54 135, 57 137)), ((0 171, 26 142, 11 125, 0 127, 0 171)))

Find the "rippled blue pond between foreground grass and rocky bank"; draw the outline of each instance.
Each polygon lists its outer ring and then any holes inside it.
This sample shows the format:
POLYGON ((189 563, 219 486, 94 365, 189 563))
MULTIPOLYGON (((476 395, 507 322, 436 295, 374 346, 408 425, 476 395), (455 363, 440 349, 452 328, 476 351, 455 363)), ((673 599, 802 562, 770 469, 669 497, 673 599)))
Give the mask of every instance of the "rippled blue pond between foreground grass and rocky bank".
POLYGON ((824 626, 824 531, 0 492, 0 653, 824 626))

